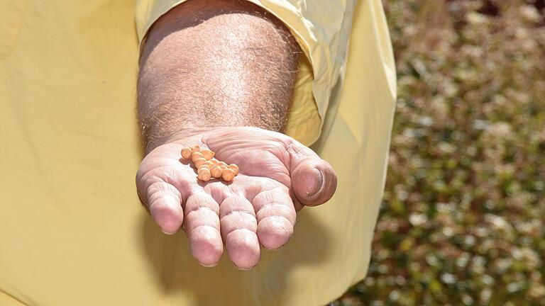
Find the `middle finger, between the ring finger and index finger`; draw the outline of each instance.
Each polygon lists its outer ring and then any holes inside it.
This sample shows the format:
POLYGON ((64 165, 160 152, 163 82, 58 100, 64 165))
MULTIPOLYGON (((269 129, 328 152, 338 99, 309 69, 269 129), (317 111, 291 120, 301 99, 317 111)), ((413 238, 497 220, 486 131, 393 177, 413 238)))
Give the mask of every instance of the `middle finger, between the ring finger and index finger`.
POLYGON ((219 207, 221 237, 235 266, 248 270, 258 264, 261 256, 258 222, 252 204, 246 198, 230 196, 219 207))

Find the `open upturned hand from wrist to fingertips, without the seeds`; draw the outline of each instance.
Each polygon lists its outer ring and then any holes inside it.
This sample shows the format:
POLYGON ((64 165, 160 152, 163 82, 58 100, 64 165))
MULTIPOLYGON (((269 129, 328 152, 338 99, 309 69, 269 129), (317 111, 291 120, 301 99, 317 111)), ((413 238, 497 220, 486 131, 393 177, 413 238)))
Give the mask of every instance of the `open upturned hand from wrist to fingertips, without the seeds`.
POLYGON ((260 260, 260 244, 278 249, 293 233, 296 211, 333 196, 336 174, 311 149, 278 132, 250 127, 185 130, 143 159, 136 175, 138 196, 166 234, 182 227, 192 255, 215 266, 224 244, 237 268, 260 260), (237 164, 227 183, 197 180, 183 147, 200 145, 216 159, 237 164))

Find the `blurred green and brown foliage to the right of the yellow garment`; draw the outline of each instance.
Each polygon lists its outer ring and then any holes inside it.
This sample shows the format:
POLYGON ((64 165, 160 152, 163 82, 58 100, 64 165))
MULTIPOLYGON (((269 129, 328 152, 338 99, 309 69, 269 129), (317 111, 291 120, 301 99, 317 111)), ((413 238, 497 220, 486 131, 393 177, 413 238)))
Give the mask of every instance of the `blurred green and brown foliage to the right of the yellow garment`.
POLYGON ((545 1, 384 4, 385 197, 368 277, 334 304, 545 305, 545 1))

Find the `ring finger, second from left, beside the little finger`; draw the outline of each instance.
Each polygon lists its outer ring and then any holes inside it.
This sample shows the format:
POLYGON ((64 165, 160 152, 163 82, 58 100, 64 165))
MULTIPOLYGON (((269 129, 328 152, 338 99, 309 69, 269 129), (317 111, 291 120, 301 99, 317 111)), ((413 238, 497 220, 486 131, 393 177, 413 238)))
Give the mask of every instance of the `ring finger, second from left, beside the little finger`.
POLYGON ((185 203, 185 231, 191 254, 203 266, 216 266, 224 252, 219 232, 219 205, 207 193, 194 193, 185 203))

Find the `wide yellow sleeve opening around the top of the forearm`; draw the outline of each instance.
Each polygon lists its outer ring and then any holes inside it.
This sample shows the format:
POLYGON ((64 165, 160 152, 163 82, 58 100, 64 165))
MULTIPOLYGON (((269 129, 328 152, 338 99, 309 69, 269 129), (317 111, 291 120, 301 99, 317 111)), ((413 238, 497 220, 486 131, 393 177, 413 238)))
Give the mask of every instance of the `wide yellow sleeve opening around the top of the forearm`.
MULTIPOLYGON (((280 19, 296 38, 305 57, 288 113, 286 134, 312 145, 320 133, 331 90, 346 63, 354 1, 247 0, 280 19)), ((142 43, 155 21, 185 0, 137 0, 136 29, 142 43)))

